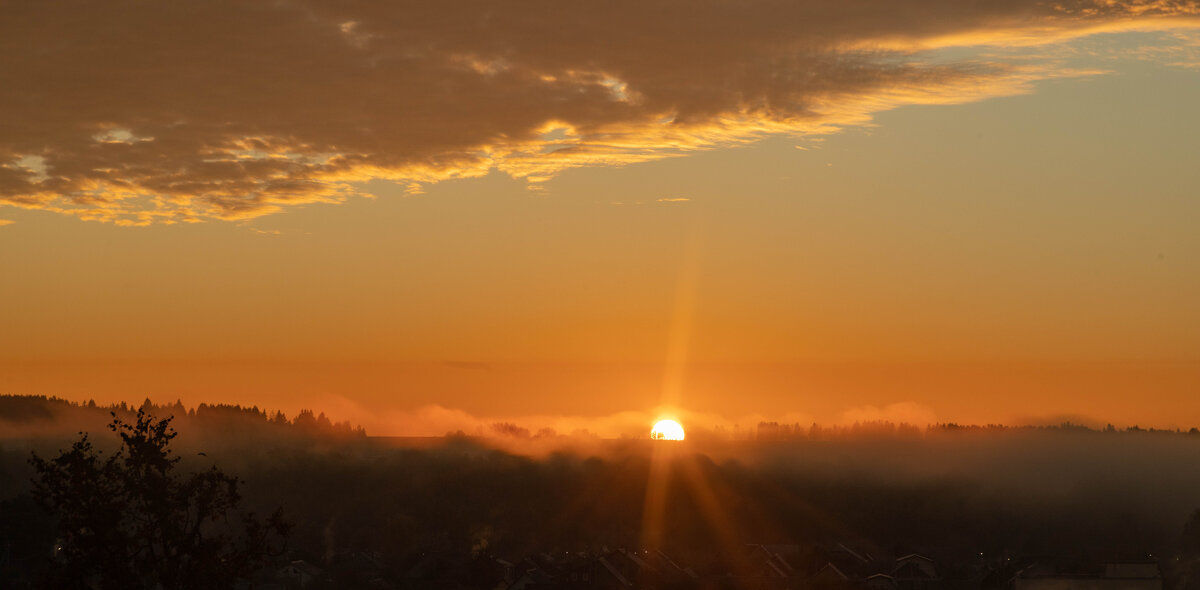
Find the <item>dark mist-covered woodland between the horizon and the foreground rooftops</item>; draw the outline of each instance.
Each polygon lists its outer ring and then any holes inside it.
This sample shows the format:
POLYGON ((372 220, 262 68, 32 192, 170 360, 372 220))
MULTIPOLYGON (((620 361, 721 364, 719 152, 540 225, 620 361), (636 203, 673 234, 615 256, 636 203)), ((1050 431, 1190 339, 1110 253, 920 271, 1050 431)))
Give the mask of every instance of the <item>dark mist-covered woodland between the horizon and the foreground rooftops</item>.
MULTIPOLYGON (((334 564, 376 553, 394 572, 416 571, 430 554, 478 562, 658 547, 710 574, 738 567, 736 548, 745 543, 847 543, 876 556, 935 555, 948 579, 964 576, 955 567, 1002 567, 1006 559, 1015 568, 1159 555, 1164 574, 1186 582, 1192 554, 1178 561, 1181 532, 1189 538, 1184 523, 1200 523, 1192 517, 1200 431, 877 422, 652 441, 491 425, 473 437, 379 439, 324 414, 140 409, 175 416, 181 469, 221 465, 244 478, 250 508, 284 510, 296 524, 289 559, 334 564)), ((12 475, 0 480, 0 524, 17 522, 14 510, 28 502, 29 451, 52 454, 83 428, 112 452, 118 440, 100 426, 109 410, 0 398, 0 472, 12 475)), ((133 408, 112 410, 133 419, 133 408)), ((0 538, 41 538, 38 514, 23 518, 36 525, 0 529, 0 538)), ((13 547, 18 562, 32 562, 28 543, 13 547)), ((410 588, 430 588, 414 576, 410 588)))

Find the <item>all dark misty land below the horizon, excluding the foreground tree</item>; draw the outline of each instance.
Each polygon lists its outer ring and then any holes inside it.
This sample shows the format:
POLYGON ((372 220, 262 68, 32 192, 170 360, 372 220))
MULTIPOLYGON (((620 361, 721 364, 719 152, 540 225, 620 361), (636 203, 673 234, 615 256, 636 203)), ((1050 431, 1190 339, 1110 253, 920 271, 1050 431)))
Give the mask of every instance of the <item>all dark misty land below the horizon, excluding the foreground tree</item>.
MULTIPOLYGON (((244 588, 1200 588, 1194 432, 762 425, 655 442, 498 425, 386 439, 308 413, 140 409, 174 416, 180 474, 236 476, 239 513, 282 508, 292 524, 244 588)), ((31 454, 80 431, 114 452, 110 413, 136 409, 0 397, 0 588, 61 566, 31 454)))

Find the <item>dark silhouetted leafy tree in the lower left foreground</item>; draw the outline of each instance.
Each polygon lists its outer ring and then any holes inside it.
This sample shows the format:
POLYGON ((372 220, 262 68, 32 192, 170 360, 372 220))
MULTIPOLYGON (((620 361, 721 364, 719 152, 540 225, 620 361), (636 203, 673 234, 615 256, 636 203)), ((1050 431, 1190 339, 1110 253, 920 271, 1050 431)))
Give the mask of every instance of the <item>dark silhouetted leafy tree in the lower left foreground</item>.
POLYGON ((266 562, 290 528, 278 511, 238 518, 236 477, 176 474, 170 417, 112 416, 121 446, 107 458, 83 433, 70 451, 30 459, 32 495, 58 517, 52 588, 230 588, 266 562))

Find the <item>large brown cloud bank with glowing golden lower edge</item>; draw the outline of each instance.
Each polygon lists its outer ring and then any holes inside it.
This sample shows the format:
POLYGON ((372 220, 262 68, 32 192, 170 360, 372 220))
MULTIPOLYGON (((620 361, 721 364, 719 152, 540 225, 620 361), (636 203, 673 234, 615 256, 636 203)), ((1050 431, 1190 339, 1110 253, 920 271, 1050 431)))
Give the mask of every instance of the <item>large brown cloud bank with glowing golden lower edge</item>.
POLYGON ((245 219, 502 170, 536 185, 1068 72, 946 46, 1180 26, 1195 1, 16 2, 0 203, 245 219))

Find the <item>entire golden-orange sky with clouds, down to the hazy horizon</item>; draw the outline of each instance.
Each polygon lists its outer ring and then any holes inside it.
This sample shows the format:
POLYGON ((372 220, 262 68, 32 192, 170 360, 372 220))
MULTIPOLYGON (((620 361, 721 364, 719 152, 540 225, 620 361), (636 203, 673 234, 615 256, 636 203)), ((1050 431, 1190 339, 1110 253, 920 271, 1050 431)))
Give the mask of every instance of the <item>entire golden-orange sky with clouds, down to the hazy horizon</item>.
POLYGON ((1200 425, 1198 12, 6 5, 0 391, 1200 425))

